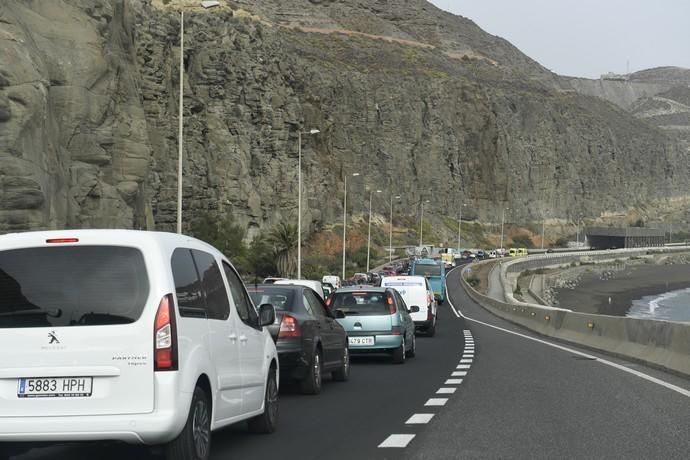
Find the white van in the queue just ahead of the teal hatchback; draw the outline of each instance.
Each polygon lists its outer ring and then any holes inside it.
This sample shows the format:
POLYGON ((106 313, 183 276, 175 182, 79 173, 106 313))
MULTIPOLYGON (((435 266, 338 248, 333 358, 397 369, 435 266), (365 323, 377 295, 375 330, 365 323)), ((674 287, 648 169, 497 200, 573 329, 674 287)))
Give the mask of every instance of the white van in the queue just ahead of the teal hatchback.
POLYGON ((436 299, 429 280, 423 276, 384 276, 381 287, 392 287, 402 296, 407 307, 417 306, 419 311, 410 313, 415 329, 429 337, 436 333, 436 299))

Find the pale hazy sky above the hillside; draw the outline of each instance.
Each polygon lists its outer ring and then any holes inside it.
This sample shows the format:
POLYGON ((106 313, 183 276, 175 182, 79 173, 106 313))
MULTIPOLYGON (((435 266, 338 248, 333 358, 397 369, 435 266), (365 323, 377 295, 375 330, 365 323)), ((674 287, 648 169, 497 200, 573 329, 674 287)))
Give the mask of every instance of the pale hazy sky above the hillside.
POLYGON ((690 0, 430 0, 561 75, 690 68, 690 0))

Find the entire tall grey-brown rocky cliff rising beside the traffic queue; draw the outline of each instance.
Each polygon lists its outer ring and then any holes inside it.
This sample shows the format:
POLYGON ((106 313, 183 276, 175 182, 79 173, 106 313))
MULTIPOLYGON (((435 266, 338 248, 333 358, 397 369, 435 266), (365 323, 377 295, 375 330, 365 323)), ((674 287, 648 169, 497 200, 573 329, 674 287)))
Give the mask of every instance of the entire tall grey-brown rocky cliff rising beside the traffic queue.
POLYGON ((0 231, 174 229, 182 7, 185 228, 229 213, 251 237, 295 219, 310 128, 311 230, 342 215, 352 172, 356 212, 367 188, 400 194, 401 213, 464 201, 487 221, 686 195, 677 139, 423 0, 221 3, 0 4, 0 231))

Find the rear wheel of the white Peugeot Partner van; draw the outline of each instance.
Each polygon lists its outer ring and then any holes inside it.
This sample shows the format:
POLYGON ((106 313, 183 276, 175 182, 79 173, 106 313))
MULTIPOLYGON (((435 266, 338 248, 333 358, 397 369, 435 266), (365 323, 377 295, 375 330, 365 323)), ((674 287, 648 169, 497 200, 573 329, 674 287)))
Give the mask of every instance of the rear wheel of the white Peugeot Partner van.
POLYGON ((187 423, 165 446, 167 460, 207 460, 211 454, 211 404, 200 387, 194 389, 187 423))

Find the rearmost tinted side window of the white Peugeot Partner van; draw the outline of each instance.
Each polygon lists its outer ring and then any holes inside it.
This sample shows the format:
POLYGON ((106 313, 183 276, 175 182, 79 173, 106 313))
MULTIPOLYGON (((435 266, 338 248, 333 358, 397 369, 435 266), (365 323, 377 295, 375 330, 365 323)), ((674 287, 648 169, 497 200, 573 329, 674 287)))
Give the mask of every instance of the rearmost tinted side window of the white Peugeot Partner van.
POLYGON ((201 291, 201 280, 192 258, 192 251, 186 248, 175 249, 170 265, 180 316, 205 318, 206 302, 201 291))

